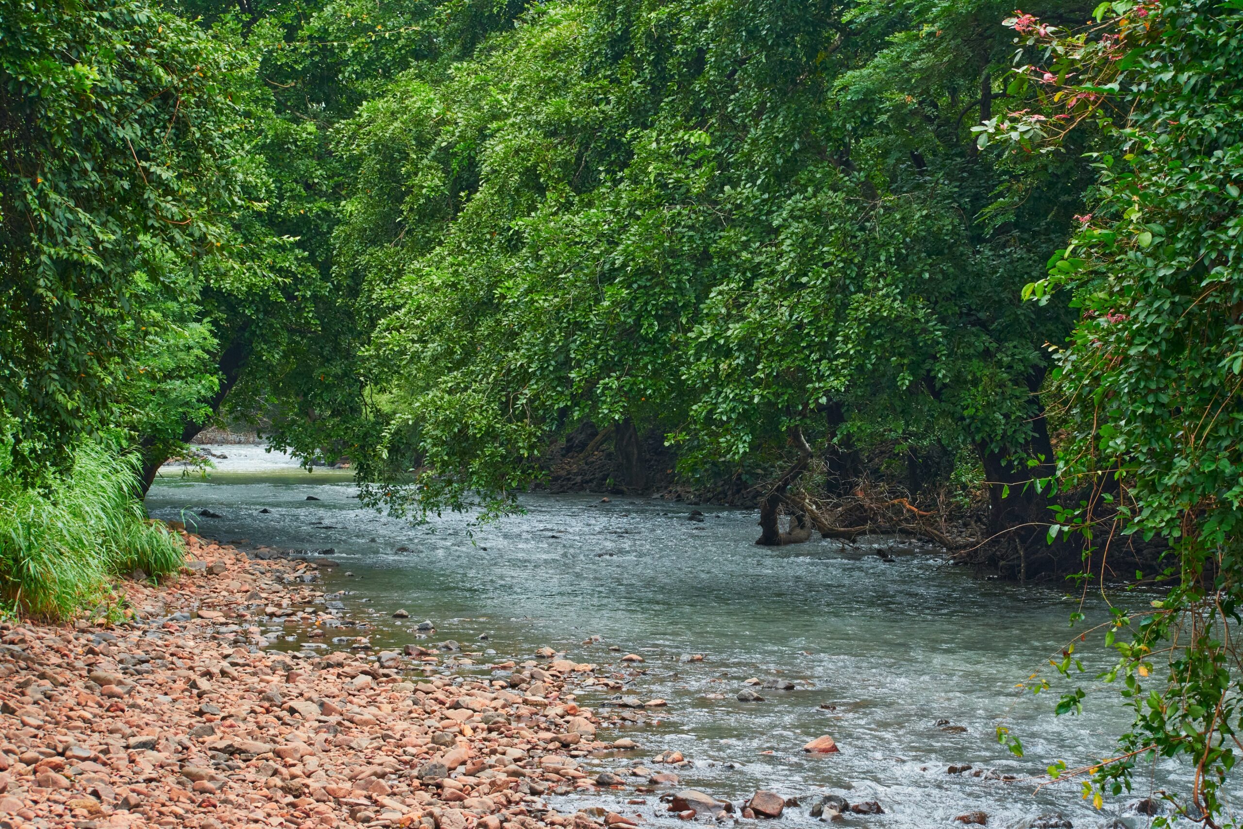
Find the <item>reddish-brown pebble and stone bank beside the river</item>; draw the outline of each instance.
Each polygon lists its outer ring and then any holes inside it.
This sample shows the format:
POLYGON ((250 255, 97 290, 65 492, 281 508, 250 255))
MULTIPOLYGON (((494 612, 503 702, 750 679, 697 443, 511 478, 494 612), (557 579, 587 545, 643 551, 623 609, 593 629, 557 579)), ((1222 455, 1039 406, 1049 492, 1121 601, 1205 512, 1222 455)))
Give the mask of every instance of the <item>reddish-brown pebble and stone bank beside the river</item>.
POLYGON ((313 607, 316 564, 186 541, 193 558, 178 578, 118 587, 132 608, 122 625, 0 625, 0 825, 636 820, 563 815, 542 799, 612 785, 577 758, 634 748, 598 740, 595 715, 563 694, 594 665, 547 651, 480 681, 409 676, 440 659, 413 644, 373 656, 264 651, 259 618, 331 626, 332 611, 313 607))

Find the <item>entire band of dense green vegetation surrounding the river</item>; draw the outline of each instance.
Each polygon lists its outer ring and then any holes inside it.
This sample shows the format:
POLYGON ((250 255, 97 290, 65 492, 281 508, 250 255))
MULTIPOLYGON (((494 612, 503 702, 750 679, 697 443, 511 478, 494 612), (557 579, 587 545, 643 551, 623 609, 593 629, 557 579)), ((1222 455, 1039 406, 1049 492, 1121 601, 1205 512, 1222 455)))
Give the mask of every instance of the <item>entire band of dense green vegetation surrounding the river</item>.
POLYGON ((175 567, 134 497, 216 419, 415 518, 607 446, 761 543, 1157 585, 1091 771, 1185 754, 1217 815, 1241 6, 0 0, 2 589, 175 567))

